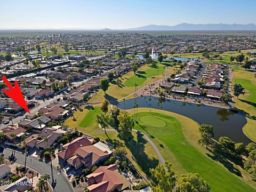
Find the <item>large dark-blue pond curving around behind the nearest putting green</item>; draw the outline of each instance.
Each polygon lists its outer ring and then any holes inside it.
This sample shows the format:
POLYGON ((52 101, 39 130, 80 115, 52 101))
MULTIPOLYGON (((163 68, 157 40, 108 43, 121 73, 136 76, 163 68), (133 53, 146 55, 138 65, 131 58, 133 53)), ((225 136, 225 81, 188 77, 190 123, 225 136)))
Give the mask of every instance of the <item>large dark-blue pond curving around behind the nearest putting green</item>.
MULTIPOLYGON (((159 102, 156 97, 139 97, 137 98, 139 107, 155 108, 171 111, 196 121, 198 124, 209 124, 214 129, 214 139, 226 136, 235 142, 243 142, 245 145, 252 142, 243 133, 243 126, 247 123, 245 115, 236 110, 223 109, 219 107, 211 107, 205 105, 196 105, 182 101, 174 101, 165 99, 159 102), (151 100, 150 100, 151 98, 151 100)), ((118 108, 131 109, 134 106, 134 99, 119 102, 118 108)))

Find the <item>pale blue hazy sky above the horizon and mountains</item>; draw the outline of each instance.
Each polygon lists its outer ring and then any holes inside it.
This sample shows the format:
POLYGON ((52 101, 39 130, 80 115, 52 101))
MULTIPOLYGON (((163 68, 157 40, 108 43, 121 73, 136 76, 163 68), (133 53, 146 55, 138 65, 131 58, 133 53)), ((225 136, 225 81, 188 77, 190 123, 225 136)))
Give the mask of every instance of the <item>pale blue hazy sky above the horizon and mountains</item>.
POLYGON ((256 23, 256 0, 0 0, 0 28, 256 23))

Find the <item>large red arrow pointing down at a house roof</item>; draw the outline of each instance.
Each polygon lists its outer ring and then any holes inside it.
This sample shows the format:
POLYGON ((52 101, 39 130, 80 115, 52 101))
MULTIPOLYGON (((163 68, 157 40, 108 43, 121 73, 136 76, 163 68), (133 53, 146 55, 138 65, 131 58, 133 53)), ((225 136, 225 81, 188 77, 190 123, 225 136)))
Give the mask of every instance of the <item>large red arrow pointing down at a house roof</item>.
POLYGON ((23 109, 25 109, 29 114, 30 111, 28 109, 27 103, 23 97, 23 94, 20 90, 20 86, 17 82, 17 80, 15 79, 15 84, 14 87, 12 87, 12 84, 7 80, 7 78, 5 76, 2 77, 4 83, 7 85, 7 87, 9 88, 10 91, 8 90, 2 90, 5 94, 7 94, 10 98, 12 98, 13 101, 17 102, 17 104, 22 107, 23 109))

